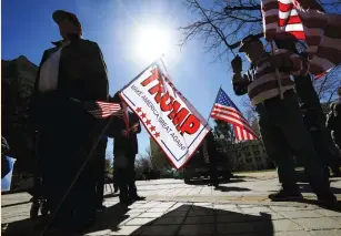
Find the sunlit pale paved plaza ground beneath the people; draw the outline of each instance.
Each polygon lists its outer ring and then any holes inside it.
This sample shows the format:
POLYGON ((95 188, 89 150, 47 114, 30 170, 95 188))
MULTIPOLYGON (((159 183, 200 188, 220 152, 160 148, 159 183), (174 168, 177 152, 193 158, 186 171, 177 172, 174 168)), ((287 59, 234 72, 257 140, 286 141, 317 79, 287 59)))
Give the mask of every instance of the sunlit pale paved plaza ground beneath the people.
MULTIPOLYGON (((83 235, 225 235, 225 236, 341 236, 341 213, 313 205, 314 195, 300 183, 303 203, 273 203, 267 196, 279 188, 273 172, 240 174, 213 189, 204 181, 185 185, 180 179, 138 182, 146 201, 121 207, 117 194, 106 189, 97 225, 83 235)), ((341 201, 341 178, 332 178, 341 201)), ((39 235, 29 219, 26 193, 2 196, 4 236, 39 235)), ((64 235, 50 232, 47 235, 64 235)))

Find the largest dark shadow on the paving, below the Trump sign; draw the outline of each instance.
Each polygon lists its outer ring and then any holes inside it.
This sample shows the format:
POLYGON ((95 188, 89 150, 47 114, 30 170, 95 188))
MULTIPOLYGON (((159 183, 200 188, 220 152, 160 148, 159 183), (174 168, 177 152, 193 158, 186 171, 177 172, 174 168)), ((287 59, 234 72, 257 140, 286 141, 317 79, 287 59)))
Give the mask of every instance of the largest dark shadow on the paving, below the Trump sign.
POLYGON ((271 215, 183 205, 141 226, 129 235, 262 235, 273 236, 271 215))

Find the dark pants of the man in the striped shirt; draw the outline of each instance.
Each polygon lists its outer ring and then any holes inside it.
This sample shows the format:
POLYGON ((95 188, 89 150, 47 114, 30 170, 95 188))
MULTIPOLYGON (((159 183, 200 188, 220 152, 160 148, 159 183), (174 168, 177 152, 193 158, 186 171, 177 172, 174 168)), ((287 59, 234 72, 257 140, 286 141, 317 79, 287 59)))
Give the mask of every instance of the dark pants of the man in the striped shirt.
POLYGON ((311 136, 303 123, 297 95, 284 93, 284 100, 274 98, 257 106, 259 126, 268 156, 275 162, 279 181, 284 188, 297 187, 291 151, 302 160, 314 193, 329 189, 322 163, 319 161, 311 136))

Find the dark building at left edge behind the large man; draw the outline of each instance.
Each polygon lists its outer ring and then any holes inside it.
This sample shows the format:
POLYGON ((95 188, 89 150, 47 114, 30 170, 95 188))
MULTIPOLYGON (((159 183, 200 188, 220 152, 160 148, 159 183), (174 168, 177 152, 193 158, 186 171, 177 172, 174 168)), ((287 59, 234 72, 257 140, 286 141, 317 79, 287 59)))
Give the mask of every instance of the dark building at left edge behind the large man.
POLYGON ((28 110, 38 66, 26 57, 1 60, 1 135, 17 158, 14 172, 31 172, 34 164, 34 134, 28 127, 28 110))

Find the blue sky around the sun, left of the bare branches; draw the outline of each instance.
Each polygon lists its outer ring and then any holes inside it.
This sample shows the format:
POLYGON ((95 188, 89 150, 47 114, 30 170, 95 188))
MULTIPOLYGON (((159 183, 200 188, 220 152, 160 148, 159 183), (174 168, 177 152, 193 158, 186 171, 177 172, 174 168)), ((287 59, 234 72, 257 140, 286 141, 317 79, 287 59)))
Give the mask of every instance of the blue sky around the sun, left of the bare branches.
MULTIPOLYGON (((214 62, 214 54, 204 53, 200 41, 178 47, 181 33, 193 16, 182 1, 170 0, 60 0, 2 1, 1 59, 11 60, 21 54, 38 64, 51 41, 60 40, 51 14, 62 9, 76 13, 83 27, 83 38, 96 41, 104 55, 110 80, 110 94, 121 89, 150 62, 137 53, 141 29, 148 25, 168 31, 170 49, 166 64, 175 86, 194 107, 208 117, 220 85, 239 104, 231 88, 227 62, 214 62)), ((149 134, 139 135, 141 153, 149 146, 149 134)), ((112 145, 108 145, 112 150, 112 145)))

